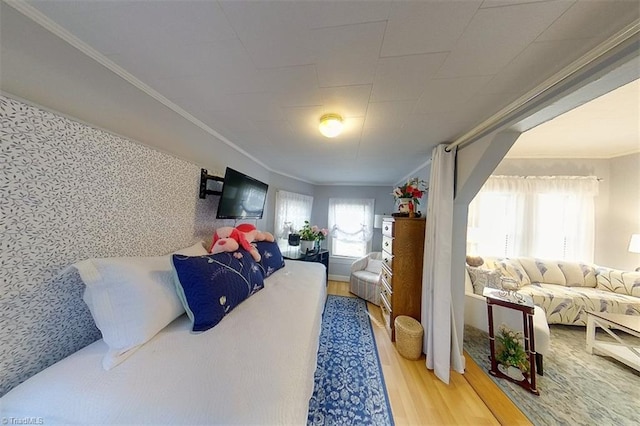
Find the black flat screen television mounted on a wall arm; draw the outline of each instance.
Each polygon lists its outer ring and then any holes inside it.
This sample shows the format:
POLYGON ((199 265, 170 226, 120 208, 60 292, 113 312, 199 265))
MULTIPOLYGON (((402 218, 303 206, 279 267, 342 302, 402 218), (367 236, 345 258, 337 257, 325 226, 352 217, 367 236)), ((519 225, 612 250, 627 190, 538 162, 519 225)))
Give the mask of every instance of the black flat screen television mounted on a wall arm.
POLYGON ((269 185, 227 167, 218 203, 218 219, 262 219, 269 185))

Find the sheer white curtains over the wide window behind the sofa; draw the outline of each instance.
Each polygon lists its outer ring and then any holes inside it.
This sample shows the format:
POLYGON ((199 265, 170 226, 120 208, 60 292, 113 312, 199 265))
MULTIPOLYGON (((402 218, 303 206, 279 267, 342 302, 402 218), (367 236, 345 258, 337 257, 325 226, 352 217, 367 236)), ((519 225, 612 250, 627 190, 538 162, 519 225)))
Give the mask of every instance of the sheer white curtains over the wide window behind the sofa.
POLYGON ((469 205, 471 254, 593 262, 595 176, 491 176, 469 205))

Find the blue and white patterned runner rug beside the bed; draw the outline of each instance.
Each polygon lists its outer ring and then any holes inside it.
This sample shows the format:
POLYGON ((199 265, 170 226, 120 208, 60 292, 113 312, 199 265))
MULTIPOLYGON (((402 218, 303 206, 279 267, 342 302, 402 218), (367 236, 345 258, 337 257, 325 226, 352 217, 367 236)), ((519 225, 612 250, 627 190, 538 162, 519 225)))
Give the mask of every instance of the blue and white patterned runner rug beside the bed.
POLYGON ((327 297, 307 424, 394 424, 362 299, 327 297))

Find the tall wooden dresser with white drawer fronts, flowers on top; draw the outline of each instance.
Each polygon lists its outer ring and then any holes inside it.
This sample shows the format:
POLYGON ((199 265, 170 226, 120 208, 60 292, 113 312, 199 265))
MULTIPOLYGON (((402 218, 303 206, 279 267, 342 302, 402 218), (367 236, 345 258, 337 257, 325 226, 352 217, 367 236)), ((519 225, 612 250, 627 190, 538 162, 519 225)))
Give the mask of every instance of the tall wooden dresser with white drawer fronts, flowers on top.
POLYGON ((381 308, 385 327, 395 341, 399 315, 420 321, 424 218, 385 218, 382 224, 381 308))

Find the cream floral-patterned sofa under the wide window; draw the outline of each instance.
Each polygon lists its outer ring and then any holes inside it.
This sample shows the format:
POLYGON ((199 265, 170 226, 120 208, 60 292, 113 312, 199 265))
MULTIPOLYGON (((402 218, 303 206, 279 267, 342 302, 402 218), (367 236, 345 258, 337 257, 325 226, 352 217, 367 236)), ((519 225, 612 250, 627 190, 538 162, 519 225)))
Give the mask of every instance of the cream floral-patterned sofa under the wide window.
MULTIPOLYGON (((520 293, 544 309, 549 324, 586 325, 587 311, 640 315, 640 272, 530 257, 483 260, 482 271, 467 267, 471 275, 490 275, 489 286, 500 277, 513 279, 520 293)), ((482 292, 482 279, 471 281, 467 293, 482 292)))

